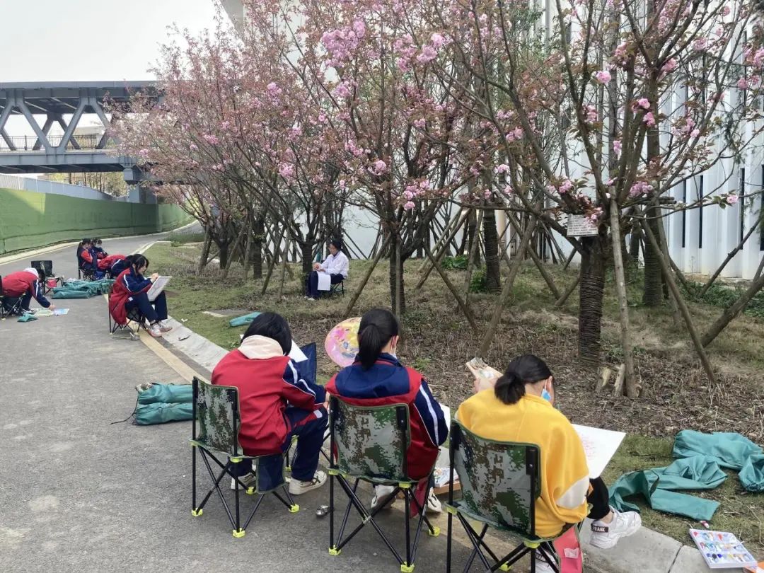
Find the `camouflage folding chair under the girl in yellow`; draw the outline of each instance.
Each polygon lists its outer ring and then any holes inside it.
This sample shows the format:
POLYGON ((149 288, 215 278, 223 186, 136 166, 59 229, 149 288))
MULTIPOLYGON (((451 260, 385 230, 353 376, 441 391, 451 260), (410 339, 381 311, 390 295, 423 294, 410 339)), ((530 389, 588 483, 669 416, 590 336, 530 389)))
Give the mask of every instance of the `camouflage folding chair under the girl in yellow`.
MULTIPOLYGON (((539 497, 540 448, 534 444, 496 442, 474 435, 457 420, 451 423, 451 486, 448 489, 448 541, 446 571, 451 571, 452 522, 456 516, 472 543, 472 554, 464 571, 475 557, 485 571, 509 571, 511 565, 531 553, 531 571, 542 558, 559 571, 552 541, 536 536, 536 498, 539 497), (454 501, 454 472, 461 484, 461 500, 454 501), (480 533, 468 520, 482 523, 480 533), (513 551, 498 558, 484 541, 488 527, 519 537, 513 551), (490 560, 488 558, 490 557, 490 560)), ((562 535, 562 532, 560 533, 562 535)))

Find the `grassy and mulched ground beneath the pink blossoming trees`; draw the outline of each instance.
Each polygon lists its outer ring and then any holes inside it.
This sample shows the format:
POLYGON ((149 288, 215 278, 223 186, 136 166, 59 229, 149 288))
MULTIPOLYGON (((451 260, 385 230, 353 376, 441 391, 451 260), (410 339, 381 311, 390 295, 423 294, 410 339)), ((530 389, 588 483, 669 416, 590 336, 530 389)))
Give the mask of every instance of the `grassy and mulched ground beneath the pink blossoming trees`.
MULTIPOLYGON (((238 264, 222 283, 220 271, 209 265, 201 276, 194 270, 199 244, 179 238, 173 244, 156 244, 147 252, 151 270, 173 275, 168 304, 176 319, 223 348, 236 348, 244 329, 231 329, 228 318, 203 311, 237 309, 272 310, 290 321, 298 342, 319 345, 319 382, 338 370, 321 350, 325 335, 345 316, 345 309, 369 261, 351 261, 351 277, 345 296, 309 302, 303 299, 301 274, 290 264, 293 277, 286 276, 283 297, 278 297, 280 268, 274 270, 264 296, 262 280, 244 280, 238 264)), ((422 289, 414 290, 421 261, 406 262, 406 304, 400 358, 429 380, 436 397, 448 406, 458 406, 471 393, 471 380, 463 364, 478 348, 480 333, 473 333, 451 294, 437 274, 432 273, 422 289)), ((506 272, 506 268, 504 269, 506 272)), ((448 276, 463 290, 464 271, 448 270, 448 276)), ((575 280, 575 270, 549 267, 559 290, 575 280)), ((389 306, 387 263, 382 261, 361 293, 351 316, 360 316, 374 306, 389 306)), ((578 293, 562 309, 554 309, 554 296, 532 264, 523 264, 513 296, 503 309, 502 326, 484 357, 489 364, 531 352, 545 358, 558 380, 558 407, 573 422, 627 432, 625 442, 607 468, 604 478, 612 483, 627 471, 656 468, 672 461, 673 436, 681 429, 740 432, 764 444, 764 319, 740 316, 708 348, 717 371, 717 385, 707 384, 704 372, 681 325, 675 325, 668 308, 647 309, 639 304, 640 284, 629 284, 630 319, 636 341, 637 372, 641 380, 638 400, 597 394, 597 372, 577 364, 576 333, 578 293)), ((618 308, 612 283, 604 301, 604 362, 617 367, 622 361, 618 335, 618 308)), ((711 301, 713 302, 713 301, 711 301)), ((478 324, 494 312, 495 297, 471 294, 478 324)), ((721 312, 718 306, 691 303, 691 313, 701 332, 721 312)), ((746 494, 735 472, 716 490, 688 492, 719 500, 711 527, 735 533, 759 558, 764 558, 764 494, 746 494)), ((644 506, 640 502, 641 506, 644 506)), ((688 544, 691 520, 643 508, 646 526, 658 529, 688 544)))

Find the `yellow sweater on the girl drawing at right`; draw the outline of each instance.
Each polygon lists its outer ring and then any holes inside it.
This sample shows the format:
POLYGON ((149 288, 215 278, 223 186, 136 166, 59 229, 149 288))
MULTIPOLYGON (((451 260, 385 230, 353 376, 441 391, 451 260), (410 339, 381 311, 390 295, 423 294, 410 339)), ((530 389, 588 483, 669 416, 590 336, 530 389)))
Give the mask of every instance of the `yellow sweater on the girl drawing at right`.
POLYGON ((456 413, 465 428, 486 439, 526 442, 541 448, 541 496, 536 500, 536 535, 553 537, 565 523, 587 515, 589 470, 584 446, 571 422, 547 400, 526 394, 507 405, 483 390, 456 413))

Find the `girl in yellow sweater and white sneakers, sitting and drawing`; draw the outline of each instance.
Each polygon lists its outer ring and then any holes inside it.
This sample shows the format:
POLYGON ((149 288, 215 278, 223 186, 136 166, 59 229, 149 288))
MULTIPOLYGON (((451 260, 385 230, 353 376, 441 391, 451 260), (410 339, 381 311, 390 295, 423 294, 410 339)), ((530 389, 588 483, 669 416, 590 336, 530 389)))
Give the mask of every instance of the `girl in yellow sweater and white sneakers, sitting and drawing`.
MULTIPOLYGON (((581 439, 565 415, 555 410, 554 400, 549 367, 533 354, 525 354, 510 362, 493 389, 461 403, 456 418, 481 439, 539 448, 536 536, 553 538, 566 524, 589 516, 594 520, 591 545, 608 549, 621 537, 636 533, 642 521, 639 513, 610 509, 607 486, 601 478, 590 479, 581 439)), ((555 569, 544 558, 536 563, 536 571, 555 569)))

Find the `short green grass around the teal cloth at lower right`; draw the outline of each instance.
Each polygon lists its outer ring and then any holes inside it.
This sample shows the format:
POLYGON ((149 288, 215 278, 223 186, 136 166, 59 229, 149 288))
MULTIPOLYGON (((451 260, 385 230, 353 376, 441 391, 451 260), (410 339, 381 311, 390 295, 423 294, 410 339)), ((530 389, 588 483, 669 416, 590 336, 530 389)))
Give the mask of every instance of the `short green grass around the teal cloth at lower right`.
MULTIPOLYGON (((672 463, 674 441, 669 438, 652 438, 644 435, 627 435, 620 449, 610 461, 603 474, 607 484, 612 484, 621 474, 649 468, 662 468, 672 463)), ((754 555, 764 556, 764 494, 749 494, 743 490, 735 471, 726 470, 729 476, 724 484, 714 490, 686 491, 720 502, 719 509, 709 522, 711 529, 730 531, 743 539, 754 555)), ((704 526, 685 517, 673 516, 652 510, 643 497, 629 499, 642 511, 643 524, 674 539, 692 545, 688 535, 690 528, 704 526)))

